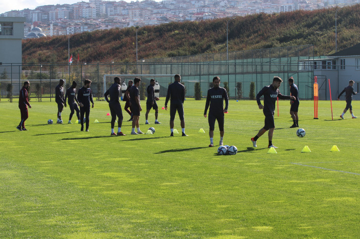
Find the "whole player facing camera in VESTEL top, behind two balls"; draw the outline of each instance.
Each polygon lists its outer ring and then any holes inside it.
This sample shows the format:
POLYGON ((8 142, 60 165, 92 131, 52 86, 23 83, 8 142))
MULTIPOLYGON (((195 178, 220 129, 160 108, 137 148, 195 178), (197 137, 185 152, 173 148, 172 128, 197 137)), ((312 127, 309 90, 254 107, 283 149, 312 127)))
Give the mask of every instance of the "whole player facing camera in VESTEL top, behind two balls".
POLYGON ((229 106, 229 100, 227 97, 227 92, 225 88, 220 87, 220 78, 219 76, 215 76, 212 79, 212 83, 214 87, 207 91, 206 104, 204 117, 206 118, 207 109, 209 108, 209 136, 210 136, 210 144, 209 147, 214 146, 213 137, 214 137, 214 128, 215 128, 215 120, 218 121, 219 130, 220 130, 220 143, 219 145, 223 145, 224 138, 224 113, 227 112, 227 107, 229 106), (224 109, 224 99, 225 99, 225 109, 224 109))

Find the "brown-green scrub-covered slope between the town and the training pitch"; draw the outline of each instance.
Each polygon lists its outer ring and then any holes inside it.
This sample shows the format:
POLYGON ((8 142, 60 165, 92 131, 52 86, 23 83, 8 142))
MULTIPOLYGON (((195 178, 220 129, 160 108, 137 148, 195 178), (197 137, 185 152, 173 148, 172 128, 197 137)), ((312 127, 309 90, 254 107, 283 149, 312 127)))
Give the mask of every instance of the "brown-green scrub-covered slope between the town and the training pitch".
MULTIPOLYGON (((254 14, 233 19, 172 22, 158 26, 99 30, 70 36, 75 62, 135 62, 138 59, 195 55, 226 51, 229 20, 229 51, 315 45, 315 55, 335 52, 337 10, 338 51, 360 43, 360 5, 314 11, 254 14)), ((23 63, 66 63, 68 36, 23 40, 23 63)))

